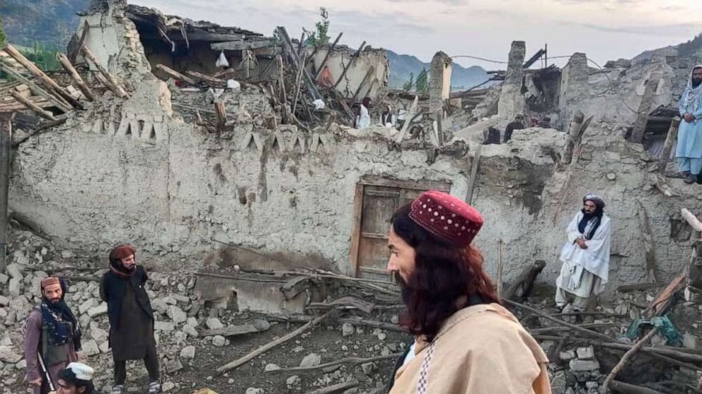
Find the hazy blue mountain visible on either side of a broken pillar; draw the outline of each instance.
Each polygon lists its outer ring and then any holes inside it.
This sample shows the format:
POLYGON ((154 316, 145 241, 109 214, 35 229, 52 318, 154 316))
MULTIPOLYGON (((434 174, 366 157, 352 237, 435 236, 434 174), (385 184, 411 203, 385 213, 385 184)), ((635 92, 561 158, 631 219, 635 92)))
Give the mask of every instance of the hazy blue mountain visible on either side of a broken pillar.
MULTIPOLYGON (((422 68, 429 70, 429 63, 424 63, 416 56, 405 54, 396 54, 388 51, 388 60, 390 62, 390 87, 402 88, 402 85, 410 80, 410 74, 414 74, 415 78, 422 72, 422 68)), ((488 73, 479 66, 465 68, 454 63, 451 71, 451 89, 459 90, 467 89, 475 85, 479 85, 485 80, 488 80, 488 73)))

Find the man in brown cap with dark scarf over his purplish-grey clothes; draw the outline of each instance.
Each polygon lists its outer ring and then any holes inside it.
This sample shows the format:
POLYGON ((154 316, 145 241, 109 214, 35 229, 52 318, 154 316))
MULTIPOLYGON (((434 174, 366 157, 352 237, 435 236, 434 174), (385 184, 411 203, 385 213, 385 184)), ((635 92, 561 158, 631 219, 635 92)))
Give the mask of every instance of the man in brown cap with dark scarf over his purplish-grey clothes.
POLYGON ((26 378, 35 394, 49 393, 45 369, 55 388, 59 371, 78 360, 76 352, 81 350, 80 323, 64 302, 66 282, 59 277, 46 277, 41 282, 41 292, 41 304, 30 312, 24 333, 26 378))

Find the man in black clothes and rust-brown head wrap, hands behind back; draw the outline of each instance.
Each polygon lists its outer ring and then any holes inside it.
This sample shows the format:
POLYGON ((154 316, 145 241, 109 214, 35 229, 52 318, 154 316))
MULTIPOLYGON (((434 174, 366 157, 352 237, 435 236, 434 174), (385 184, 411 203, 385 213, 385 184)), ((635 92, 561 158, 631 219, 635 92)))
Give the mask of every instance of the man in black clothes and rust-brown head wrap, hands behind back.
POLYGON ((149 394, 160 393, 159 356, 154 339, 154 311, 146 294, 146 270, 137 265, 131 245, 110 252, 110 270, 103 275, 100 297, 108 304, 110 347, 115 361, 113 393, 125 392, 127 360, 143 359, 149 372, 149 394))

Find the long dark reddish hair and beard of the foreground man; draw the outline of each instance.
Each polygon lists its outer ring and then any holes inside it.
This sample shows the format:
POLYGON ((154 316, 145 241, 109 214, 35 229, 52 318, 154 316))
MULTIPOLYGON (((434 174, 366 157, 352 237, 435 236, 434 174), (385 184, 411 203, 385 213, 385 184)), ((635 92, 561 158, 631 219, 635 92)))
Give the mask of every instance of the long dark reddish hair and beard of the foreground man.
POLYGON ((395 234, 415 249, 415 269, 404 284, 408 310, 401 323, 431 342, 442 323, 459 309, 499 301, 475 246, 440 239, 410 219, 409 213, 407 204, 392 217, 395 234), (466 304, 456 305, 461 296, 467 297, 466 304))

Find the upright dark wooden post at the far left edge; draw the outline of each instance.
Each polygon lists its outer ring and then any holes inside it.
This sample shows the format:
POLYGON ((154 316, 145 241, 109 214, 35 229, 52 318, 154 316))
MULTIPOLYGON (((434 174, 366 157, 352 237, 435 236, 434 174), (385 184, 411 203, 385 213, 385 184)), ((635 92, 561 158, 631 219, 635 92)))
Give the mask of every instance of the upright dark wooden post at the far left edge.
POLYGON ((0 114, 0 272, 5 270, 7 253, 10 162, 12 153, 12 114, 0 114))

